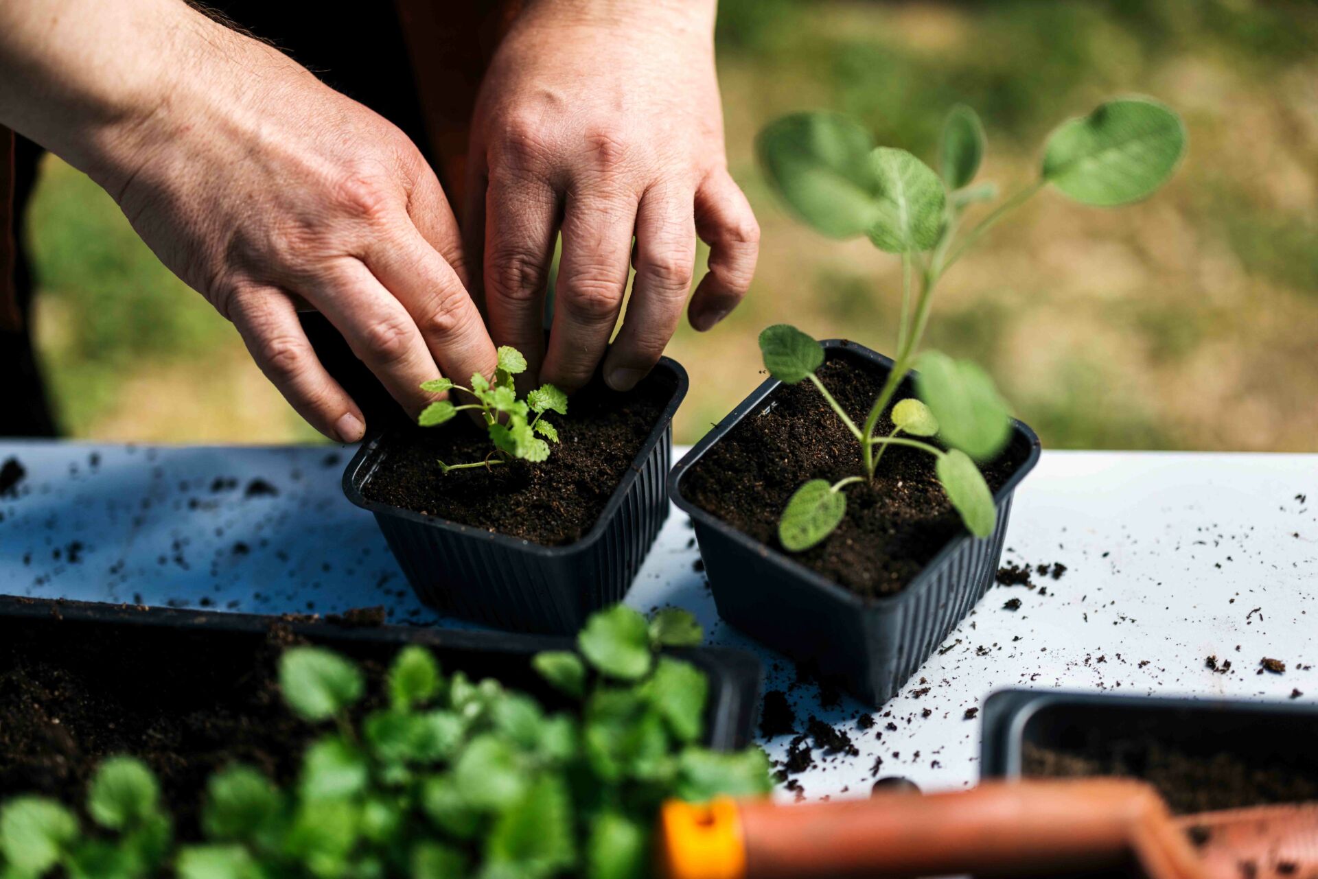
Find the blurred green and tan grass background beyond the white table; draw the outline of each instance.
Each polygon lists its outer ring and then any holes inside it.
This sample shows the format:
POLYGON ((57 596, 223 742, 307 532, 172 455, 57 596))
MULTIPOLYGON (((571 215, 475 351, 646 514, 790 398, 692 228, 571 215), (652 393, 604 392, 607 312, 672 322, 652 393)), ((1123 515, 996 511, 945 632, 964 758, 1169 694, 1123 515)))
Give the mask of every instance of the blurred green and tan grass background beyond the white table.
MULTIPOLYGON (((783 212, 751 154, 764 123, 834 108, 932 159, 944 113, 967 103, 988 132, 981 177, 1011 190, 1054 124, 1141 92, 1189 127, 1170 186, 1118 211, 1037 196, 945 279, 928 344, 988 368, 1046 447, 1318 449, 1318 4, 724 0, 718 50, 762 254, 742 308, 670 347, 692 376, 679 441, 760 380, 768 323, 892 347, 896 261, 783 212)), ((32 210, 66 434, 315 436, 84 177, 49 159, 32 210)))

